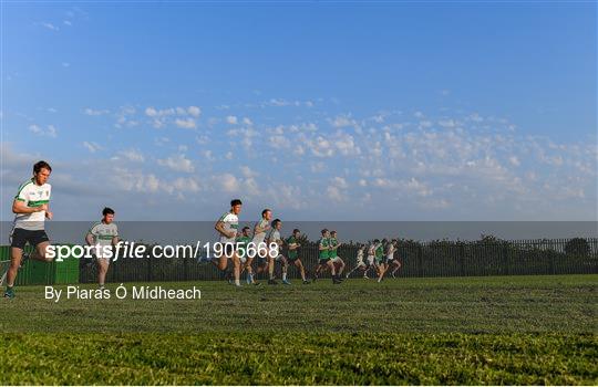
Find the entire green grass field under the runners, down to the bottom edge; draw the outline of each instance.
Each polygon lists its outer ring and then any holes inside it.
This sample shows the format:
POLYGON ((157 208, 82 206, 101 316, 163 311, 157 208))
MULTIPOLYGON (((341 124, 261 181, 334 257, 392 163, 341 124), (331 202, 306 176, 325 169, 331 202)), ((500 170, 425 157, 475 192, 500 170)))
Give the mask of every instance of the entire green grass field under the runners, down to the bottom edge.
POLYGON ((596 385, 597 283, 163 283, 202 300, 59 303, 20 287, 1 300, 0 383, 596 385))

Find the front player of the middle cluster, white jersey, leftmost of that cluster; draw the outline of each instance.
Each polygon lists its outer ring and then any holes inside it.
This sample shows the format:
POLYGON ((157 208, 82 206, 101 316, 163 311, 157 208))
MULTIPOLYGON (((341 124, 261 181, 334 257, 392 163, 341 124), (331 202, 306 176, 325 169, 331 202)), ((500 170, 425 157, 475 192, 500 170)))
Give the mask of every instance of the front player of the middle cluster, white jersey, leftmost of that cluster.
POLYGON ((214 228, 220 236, 218 247, 215 249, 219 253, 215 261, 212 261, 218 270, 226 271, 228 260, 233 262, 233 273, 235 276, 235 285, 240 286, 240 261, 235 251, 235 239, 237 237, 237 229, 239 227, 239 217, 243 207, 243 202, 239 199, 230 201, 230 210, 223 215, 216 222, 214 228))

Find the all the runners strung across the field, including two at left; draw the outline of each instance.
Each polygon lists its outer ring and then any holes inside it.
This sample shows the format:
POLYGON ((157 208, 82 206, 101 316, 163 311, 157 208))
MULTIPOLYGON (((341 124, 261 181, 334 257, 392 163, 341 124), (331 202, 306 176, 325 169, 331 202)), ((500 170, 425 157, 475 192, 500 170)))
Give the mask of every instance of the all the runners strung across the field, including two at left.
MULTIPOLYGON (((52 167, 45 161, 38 161, 33 166, 33 177, 23 182, 12 202, 14 222, 10 233, 10 263, 3 273, 0 284, 6 280, 7 286, 4 297, 14 297, 14 282, 19 268, 29 260, 52 261, 48 247, 50 239, 45 232, 44 221, 53 217, 50 210, 50 197, 52 187, 48 184, 52 167), (25 244, 33 249, 27 253, 25 244)), ((327 229, 321 231, 318 243, 319 260, 308 278, 307 270, 301 261, 299 251, 301 248, 301 231, 292 230, 292 233, 283 239, 281 236, 282 221, 272 220, 272 211, 265 209, 261 211, 261 219, 252 228, 244 227, 240 231, 238 215, 243 208, 243 202, 235 199, 230 202, 230 210, 223 215, 215 224, 218 233, 220 248, 214 258, 207 258, 218 270, 226 273, 229 282, 240 286, 240 279, 246 273, 248 284, 258 284, 256 275, 267 275, 268 284, 278 284, 275 272, 276 266, 280 269, 282 284, 290 285, 288 280, 289 266, 295 266, 299 272, 302 283, 309 284, 318 280, 326 271, 330 271, 332 282, 340 284, 353 272, 359 271, 364 279, 369 279, 368 273, 373 270, 378 281, 382 281, 384 274, 391 271, 394 278, 401 268, 399 259, 394 258, 396 252, 396 240, 379 241, 358 249, 357 265, 346 273, 344 260, 339 257, 338 251, 341 242, 337 231, 327 229), (367 253, 365 253, 367 252, 367 253), (254 268, 254 261, 256 261, 254 268)), ((111 254, 106 249, 116 245, 118 242, 118 229, 114 223, 115 211, 104 208, 101 221, 94 223, 85 236, 87 245, 100 247, 94 249, 97 264, 97 283, 104 287, 106 273, 110 265, 111 254)))

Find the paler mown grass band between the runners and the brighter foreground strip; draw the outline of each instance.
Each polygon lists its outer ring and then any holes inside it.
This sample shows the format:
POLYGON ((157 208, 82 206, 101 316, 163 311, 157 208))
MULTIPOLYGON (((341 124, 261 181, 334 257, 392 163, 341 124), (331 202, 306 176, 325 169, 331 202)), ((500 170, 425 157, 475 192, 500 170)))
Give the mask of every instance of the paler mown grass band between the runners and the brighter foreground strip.
MULTIPOLYGON (((44 300, 43 286, 1 300, 1 332, 596 333, 598 275, 361 279, 332 285, 235 289, 223 282, 145 283, 202 300, 44 300)), ((117 284, 110 284, 114 290, 117 284)), ((125 284, 131 287, 133 284, 125 284)), ((142 284, 136 284, 142 285, 142 284)), ((81 289, 95 289, 93 284, 81 289)), ((65 286, 58 286, 65 290, 65 286)))

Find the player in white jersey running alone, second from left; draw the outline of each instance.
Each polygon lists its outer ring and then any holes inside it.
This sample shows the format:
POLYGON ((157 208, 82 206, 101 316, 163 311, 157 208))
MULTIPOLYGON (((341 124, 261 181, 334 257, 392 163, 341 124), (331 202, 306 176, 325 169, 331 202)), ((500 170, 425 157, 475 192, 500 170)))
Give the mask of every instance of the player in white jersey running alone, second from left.
POLYGON ((97 261, 97 284, 104 289, 106 273, 112 257, 112 248, 118 243, 118 228, 114 223, 114 210, 104 208, 102 220, 94 223, 85 236, 87 245, 95 247, 95 258, 97 261))

